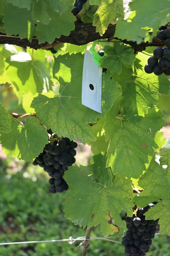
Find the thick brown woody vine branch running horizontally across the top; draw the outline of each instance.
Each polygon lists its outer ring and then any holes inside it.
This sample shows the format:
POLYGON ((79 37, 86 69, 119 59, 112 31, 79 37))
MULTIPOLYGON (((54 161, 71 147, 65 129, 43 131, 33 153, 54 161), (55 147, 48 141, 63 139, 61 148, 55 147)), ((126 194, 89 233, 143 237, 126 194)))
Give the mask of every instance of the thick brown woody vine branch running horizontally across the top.
MULTIPOLYGON (((33 49, 48 49, 51 47, 59 46, 60 44, 63 44, 63 43, 84 45, 84 44, 88 44, 89 42, 105 39, 105 38, 110 38, 108 39, 108 41, 111 39, 119 40, 119 38, 114 38, 115 29, 116 29, 116 25, 110 24, 105 34, 101 36, 99 35, 98 32, 96 32, 96 27, 93 26, 92 24, 75 23, 75 29, 71 31, 70 35, 68 36, 61 35, 60 38, 55 38, 52 44, 48 44, 47 42, 45 42, 44 44, 38 44, 38 40, 35 37, 30 43, 27 38, 20 39, 17 36, 7 36, 6 34, 3 34, 3 33, 0 33, 0 44, 14 44, 20 47, 24 47, 24 48, 30 47, 33 49)), ((158 38, 153 38, 153 41, 150 43, 142 42, 141 44, 137 44, 136 42, 127 41, 127 40, 119 40, 119 41, 132 46, 132 48, 135 50, 135 53, 144 50, 148 46, 156 47, 156 46, 164 46, 165 44, 164 41, 160 41, 158 38)))

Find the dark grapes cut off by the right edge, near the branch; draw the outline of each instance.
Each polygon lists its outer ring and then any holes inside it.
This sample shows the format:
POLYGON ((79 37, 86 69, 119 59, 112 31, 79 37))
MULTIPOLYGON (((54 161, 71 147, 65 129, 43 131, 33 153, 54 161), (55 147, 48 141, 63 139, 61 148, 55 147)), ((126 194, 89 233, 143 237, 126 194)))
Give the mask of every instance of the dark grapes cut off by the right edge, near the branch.
POLYGON ((148 74, 154 73, 156 76, 160 76, 163 73, 170 76, 170 28, 162 29, 157 37, 162 41, 166 40, 167 48, 155 48, 153 56, 147 60, 144 71, 148 74))

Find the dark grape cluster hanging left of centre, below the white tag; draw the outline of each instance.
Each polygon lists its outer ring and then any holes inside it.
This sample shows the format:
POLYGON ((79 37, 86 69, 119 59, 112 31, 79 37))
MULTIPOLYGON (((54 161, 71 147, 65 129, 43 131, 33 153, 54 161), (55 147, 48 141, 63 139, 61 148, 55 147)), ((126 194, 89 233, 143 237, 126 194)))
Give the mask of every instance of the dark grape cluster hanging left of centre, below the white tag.
POLYGON ((49 189, 51 194, 63 192, 68 189, 68 184, 64 180, 64 172, 76 162, 75 155, 77 143, 65 137, 57 140, 57 135, 52 135, 51 129, 48 130, 51 134, 50 142, 45 145, 43 152, 34 160, 33 164, 39 165, 51 177, 49 179, 49 189))

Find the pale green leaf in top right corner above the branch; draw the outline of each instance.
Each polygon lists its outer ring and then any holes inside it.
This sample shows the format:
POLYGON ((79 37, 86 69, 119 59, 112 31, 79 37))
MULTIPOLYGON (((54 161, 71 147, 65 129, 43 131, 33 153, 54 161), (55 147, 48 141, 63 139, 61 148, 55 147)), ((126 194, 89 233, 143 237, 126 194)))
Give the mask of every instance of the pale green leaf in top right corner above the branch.
POLYGON ((114 37, 136 41, 151 41, 156 36, 157 29, 169 22, 170 2, 163 0, 138 0, 129 3, 130 10, 136 12, 131 22, 118 20, 114 37), (155 4, 156 3, 156 4, 155 4), (147 32, 148 27, 153 28, 152 35, 147 32))

